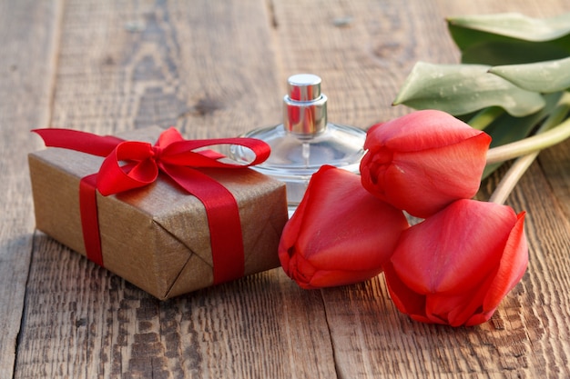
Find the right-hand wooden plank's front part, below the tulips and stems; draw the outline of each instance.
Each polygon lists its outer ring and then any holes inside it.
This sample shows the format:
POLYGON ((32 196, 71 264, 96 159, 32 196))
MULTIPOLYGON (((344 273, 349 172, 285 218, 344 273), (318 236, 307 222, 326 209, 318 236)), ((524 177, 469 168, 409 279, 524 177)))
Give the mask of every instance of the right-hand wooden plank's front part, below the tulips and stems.
POLYGON ((570 296, 561 289, 570 280, 570 225, 557 204, 541 201, 550 195, 534 165, 509 200, 528 213, 530 264, 486 324, 455 329, 414 323, 395 309, 382 275, 322 290, 339 376, 567 377, 570 296))

